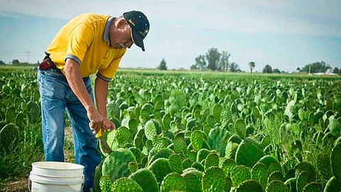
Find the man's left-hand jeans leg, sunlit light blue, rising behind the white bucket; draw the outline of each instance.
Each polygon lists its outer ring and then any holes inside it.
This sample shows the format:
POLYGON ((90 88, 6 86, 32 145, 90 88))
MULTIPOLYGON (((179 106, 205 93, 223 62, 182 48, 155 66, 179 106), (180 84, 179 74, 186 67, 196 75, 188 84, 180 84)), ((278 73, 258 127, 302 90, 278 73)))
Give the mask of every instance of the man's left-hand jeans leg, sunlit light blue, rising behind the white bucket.
POLYGON ((65 82, 60 75, 53 70, 38 70, 45 161, 64 161, 66 102, 65 82))

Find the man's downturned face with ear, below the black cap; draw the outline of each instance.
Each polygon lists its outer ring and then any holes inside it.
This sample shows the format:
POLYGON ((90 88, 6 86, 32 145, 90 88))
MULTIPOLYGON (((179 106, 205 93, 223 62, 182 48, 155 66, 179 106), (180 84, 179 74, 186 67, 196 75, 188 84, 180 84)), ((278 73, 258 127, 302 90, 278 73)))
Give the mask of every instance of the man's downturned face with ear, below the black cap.
MULTIPOLYGON (((124 21, 125 22, 125 21, 124 21)), ((131 29, 128 23, 119 23, 117 31, 113 37, 110 38, 110 47, 112 48, 131 48, 133 45, 131 39, 131 29)))

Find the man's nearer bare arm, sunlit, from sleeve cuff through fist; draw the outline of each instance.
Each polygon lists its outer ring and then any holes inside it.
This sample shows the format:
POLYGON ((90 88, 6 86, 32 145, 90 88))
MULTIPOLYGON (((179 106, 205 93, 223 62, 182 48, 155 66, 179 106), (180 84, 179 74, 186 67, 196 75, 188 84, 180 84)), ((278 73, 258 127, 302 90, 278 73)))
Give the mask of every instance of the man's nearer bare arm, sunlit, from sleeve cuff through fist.
POLYGON ((67 82, 69 83, 71 90, 75 93, 77 98, 82 102, 82 105, 87 110, 87 117, 90 119, 90 128, 94 129, 97 133, 103 126, 103 117, 97 112, 94 107, 90 95, 87 93, 87 89, 80 75, 80 66, 75 60, 68 58, 65 62, 63 69, 67 82))

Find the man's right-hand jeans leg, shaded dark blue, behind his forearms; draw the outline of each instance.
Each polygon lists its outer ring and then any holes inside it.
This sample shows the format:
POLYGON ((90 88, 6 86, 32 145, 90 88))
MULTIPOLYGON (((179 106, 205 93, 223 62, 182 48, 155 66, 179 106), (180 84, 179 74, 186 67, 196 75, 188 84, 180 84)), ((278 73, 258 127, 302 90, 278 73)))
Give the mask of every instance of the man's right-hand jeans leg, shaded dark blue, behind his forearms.
MULTIPOLYGON (((93 98, 90 78, 85 78, 87 92, 93 98)), ((75 161, 85 166, 85 186, 83 191, 90 191, 94 187, 94 171, 101 161, 101 155, 97 150, 97 139, 89 127, 87 110, 73 92, 67 97, 67 115, 72 126, 75 142, 75 161)))

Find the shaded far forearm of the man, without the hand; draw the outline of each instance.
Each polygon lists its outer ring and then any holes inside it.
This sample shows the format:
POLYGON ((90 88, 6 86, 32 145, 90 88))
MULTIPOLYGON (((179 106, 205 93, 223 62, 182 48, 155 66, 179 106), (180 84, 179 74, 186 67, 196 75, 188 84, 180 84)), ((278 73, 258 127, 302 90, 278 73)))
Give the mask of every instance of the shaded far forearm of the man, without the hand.
POLYGON ((108 86, 109 82, 96 78, 94 83, 94 95, 96 98, 97 110, 102 117, 107 117, 108 86))

